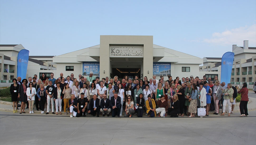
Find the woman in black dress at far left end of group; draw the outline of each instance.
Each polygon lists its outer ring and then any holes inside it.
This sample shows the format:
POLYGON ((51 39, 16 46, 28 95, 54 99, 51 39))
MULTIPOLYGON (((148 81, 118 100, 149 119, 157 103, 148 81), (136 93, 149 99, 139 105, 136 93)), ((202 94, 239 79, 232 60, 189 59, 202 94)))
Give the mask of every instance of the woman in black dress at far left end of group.
POLYGON ((10 93, 12 95, 12 107, 13 107, 13 113, 17 113, 18 108, 18 90, 19 90, 19 84, 17 83, 17 79, 12 79, 13 84, 11 84, 10 87, 10 93), (16 107, 16 109, 15 109, 16 107))

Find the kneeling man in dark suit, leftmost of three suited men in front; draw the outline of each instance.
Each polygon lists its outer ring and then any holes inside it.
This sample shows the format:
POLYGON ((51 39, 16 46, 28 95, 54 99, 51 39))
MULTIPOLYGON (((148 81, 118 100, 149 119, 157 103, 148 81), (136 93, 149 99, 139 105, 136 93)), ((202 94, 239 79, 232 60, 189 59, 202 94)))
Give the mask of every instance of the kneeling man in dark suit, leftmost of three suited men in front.
POLYGON ((93 98, 90 99, 90 105, 89 105, 89 114, 92 114, 95 116, 97 112, 97 117, 99 117, 99 112, 100 112, 100 99, 97 98, 97 95, 93 95, 93 98))

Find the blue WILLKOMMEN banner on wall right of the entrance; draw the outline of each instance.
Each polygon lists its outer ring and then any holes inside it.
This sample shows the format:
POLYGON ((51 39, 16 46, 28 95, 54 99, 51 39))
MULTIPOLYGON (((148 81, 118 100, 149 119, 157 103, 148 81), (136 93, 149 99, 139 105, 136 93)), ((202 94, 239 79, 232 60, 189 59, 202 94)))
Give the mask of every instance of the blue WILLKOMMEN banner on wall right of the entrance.
POLYGON ((156 76, 171 75, 171 63, 153 62, 153 75, 156 75, 156 76))

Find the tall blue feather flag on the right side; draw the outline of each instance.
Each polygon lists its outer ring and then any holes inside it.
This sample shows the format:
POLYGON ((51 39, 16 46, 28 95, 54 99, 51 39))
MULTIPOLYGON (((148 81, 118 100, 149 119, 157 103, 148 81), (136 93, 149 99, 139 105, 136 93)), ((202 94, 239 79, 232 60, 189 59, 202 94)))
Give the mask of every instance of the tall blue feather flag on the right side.
POLYGON ((234 53, 233 52, 226 52, 223 54, 221 58, 221 81, 225 82, 225 86, 230 83, 230 78, 231 78, 231 71, 232 71, 232 66, 234 62, 234 53))

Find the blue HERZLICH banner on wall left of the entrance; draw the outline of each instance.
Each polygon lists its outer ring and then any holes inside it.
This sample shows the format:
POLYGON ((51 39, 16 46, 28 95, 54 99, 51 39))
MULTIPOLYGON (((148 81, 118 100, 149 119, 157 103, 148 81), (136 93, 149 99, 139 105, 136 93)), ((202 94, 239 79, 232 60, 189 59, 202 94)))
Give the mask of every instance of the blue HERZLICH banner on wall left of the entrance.
POLYGON ((89 76, 93 72, 93 76, 99 76, 100 63, 99 62, 83 62, 83 76, 89 76))

